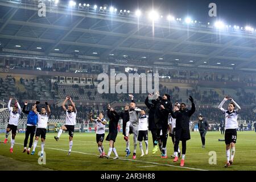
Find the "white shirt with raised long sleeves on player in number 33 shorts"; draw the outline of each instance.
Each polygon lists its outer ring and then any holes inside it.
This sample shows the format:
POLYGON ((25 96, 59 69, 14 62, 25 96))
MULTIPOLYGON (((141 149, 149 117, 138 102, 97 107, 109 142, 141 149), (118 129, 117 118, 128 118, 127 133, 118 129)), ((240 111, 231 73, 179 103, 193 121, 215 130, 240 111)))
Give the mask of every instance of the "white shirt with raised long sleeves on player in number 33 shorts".
POLYGON ((233 110, 233 112, 230 112, 229 110, 225 110, 222 108, 224 103, 228 101, 226 98, 221 102, 221 104, 218 106, 218 109, 222 111, 223 114, 225 114, 225 130, 226 129, 237 129, 238 128, 238 114, 241 110, 241 107, 232 99, 231 101, 236 105, 237 109, 233 110))

